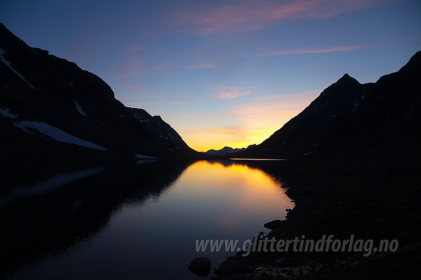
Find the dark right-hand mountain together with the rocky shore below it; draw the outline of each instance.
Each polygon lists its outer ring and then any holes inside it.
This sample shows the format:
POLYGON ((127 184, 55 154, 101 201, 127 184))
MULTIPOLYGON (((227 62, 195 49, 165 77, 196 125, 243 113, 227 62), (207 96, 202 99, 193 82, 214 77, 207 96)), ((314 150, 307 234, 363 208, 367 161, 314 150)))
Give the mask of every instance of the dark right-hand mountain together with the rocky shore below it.
POLYGON ((344 75, 262 144, 236 155, 289 159, 265 171, 284 182, 295 207, 286 220, 262 221, 262 239, 331 235, 366 247, 240 251, 211 279, 419 278, 420 109, 421 51, 375 83, 344 75), (380 249, 382 240, 397 246, 380 249))

